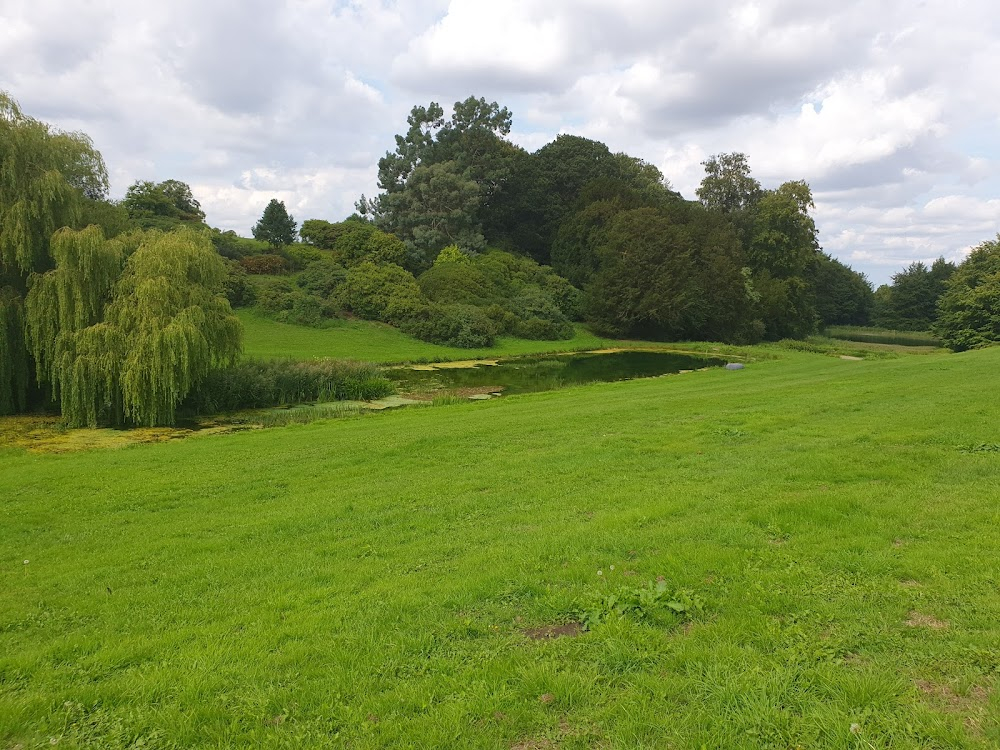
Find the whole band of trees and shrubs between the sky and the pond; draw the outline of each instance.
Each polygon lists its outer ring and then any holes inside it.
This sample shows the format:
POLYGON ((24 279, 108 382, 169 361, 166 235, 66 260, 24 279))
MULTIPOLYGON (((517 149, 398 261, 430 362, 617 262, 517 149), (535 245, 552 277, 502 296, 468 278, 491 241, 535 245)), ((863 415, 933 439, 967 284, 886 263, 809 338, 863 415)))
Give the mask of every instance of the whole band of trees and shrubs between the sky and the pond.
POLYGON ((598 141, 564 134, 528 152, 511 122, 475 97, 450 116, 414 107, 355 215, 299 228, 275 199, 250 239, 208 227, 178 180, 108 200, 86 135, 0 93, 0 413, 54 401, 72 424, 169 423, 237 361, 238 305, 470 347, 569 338, 579 321, 661 340, 869 323, 929 327, 955 349, 1000 339, 1000 238, 873 291, 822 251, 805 181, 764 187, 744 154, 723 153, 686 200, 598 141))

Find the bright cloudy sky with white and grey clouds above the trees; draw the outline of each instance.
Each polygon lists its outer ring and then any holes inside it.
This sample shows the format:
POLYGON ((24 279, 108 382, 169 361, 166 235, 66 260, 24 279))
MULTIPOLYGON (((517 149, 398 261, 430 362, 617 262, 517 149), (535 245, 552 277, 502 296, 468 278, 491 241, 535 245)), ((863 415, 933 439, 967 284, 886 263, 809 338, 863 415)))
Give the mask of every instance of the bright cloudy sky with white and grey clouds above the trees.
POLYGON ((0 0, 0 89, 89 134, 114 197, 339 220, 413 105, 485 96, 529 150, 598 139, 689 198, 725 151, 805 179, 876 284, 1000 231, 998 69, 992 0, 0 0))

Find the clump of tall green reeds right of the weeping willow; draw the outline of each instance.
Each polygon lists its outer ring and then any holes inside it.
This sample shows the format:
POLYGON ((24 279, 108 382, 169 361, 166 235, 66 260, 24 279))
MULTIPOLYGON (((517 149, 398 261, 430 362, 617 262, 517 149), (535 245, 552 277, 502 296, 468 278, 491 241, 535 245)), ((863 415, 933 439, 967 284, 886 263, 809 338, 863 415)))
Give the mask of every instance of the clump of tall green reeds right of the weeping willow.
POLYGON ((343 359, 249 359, 209 375, 184 406, 199 414, 311 401, 371 401, 395 393, 382 371, 343 359))

